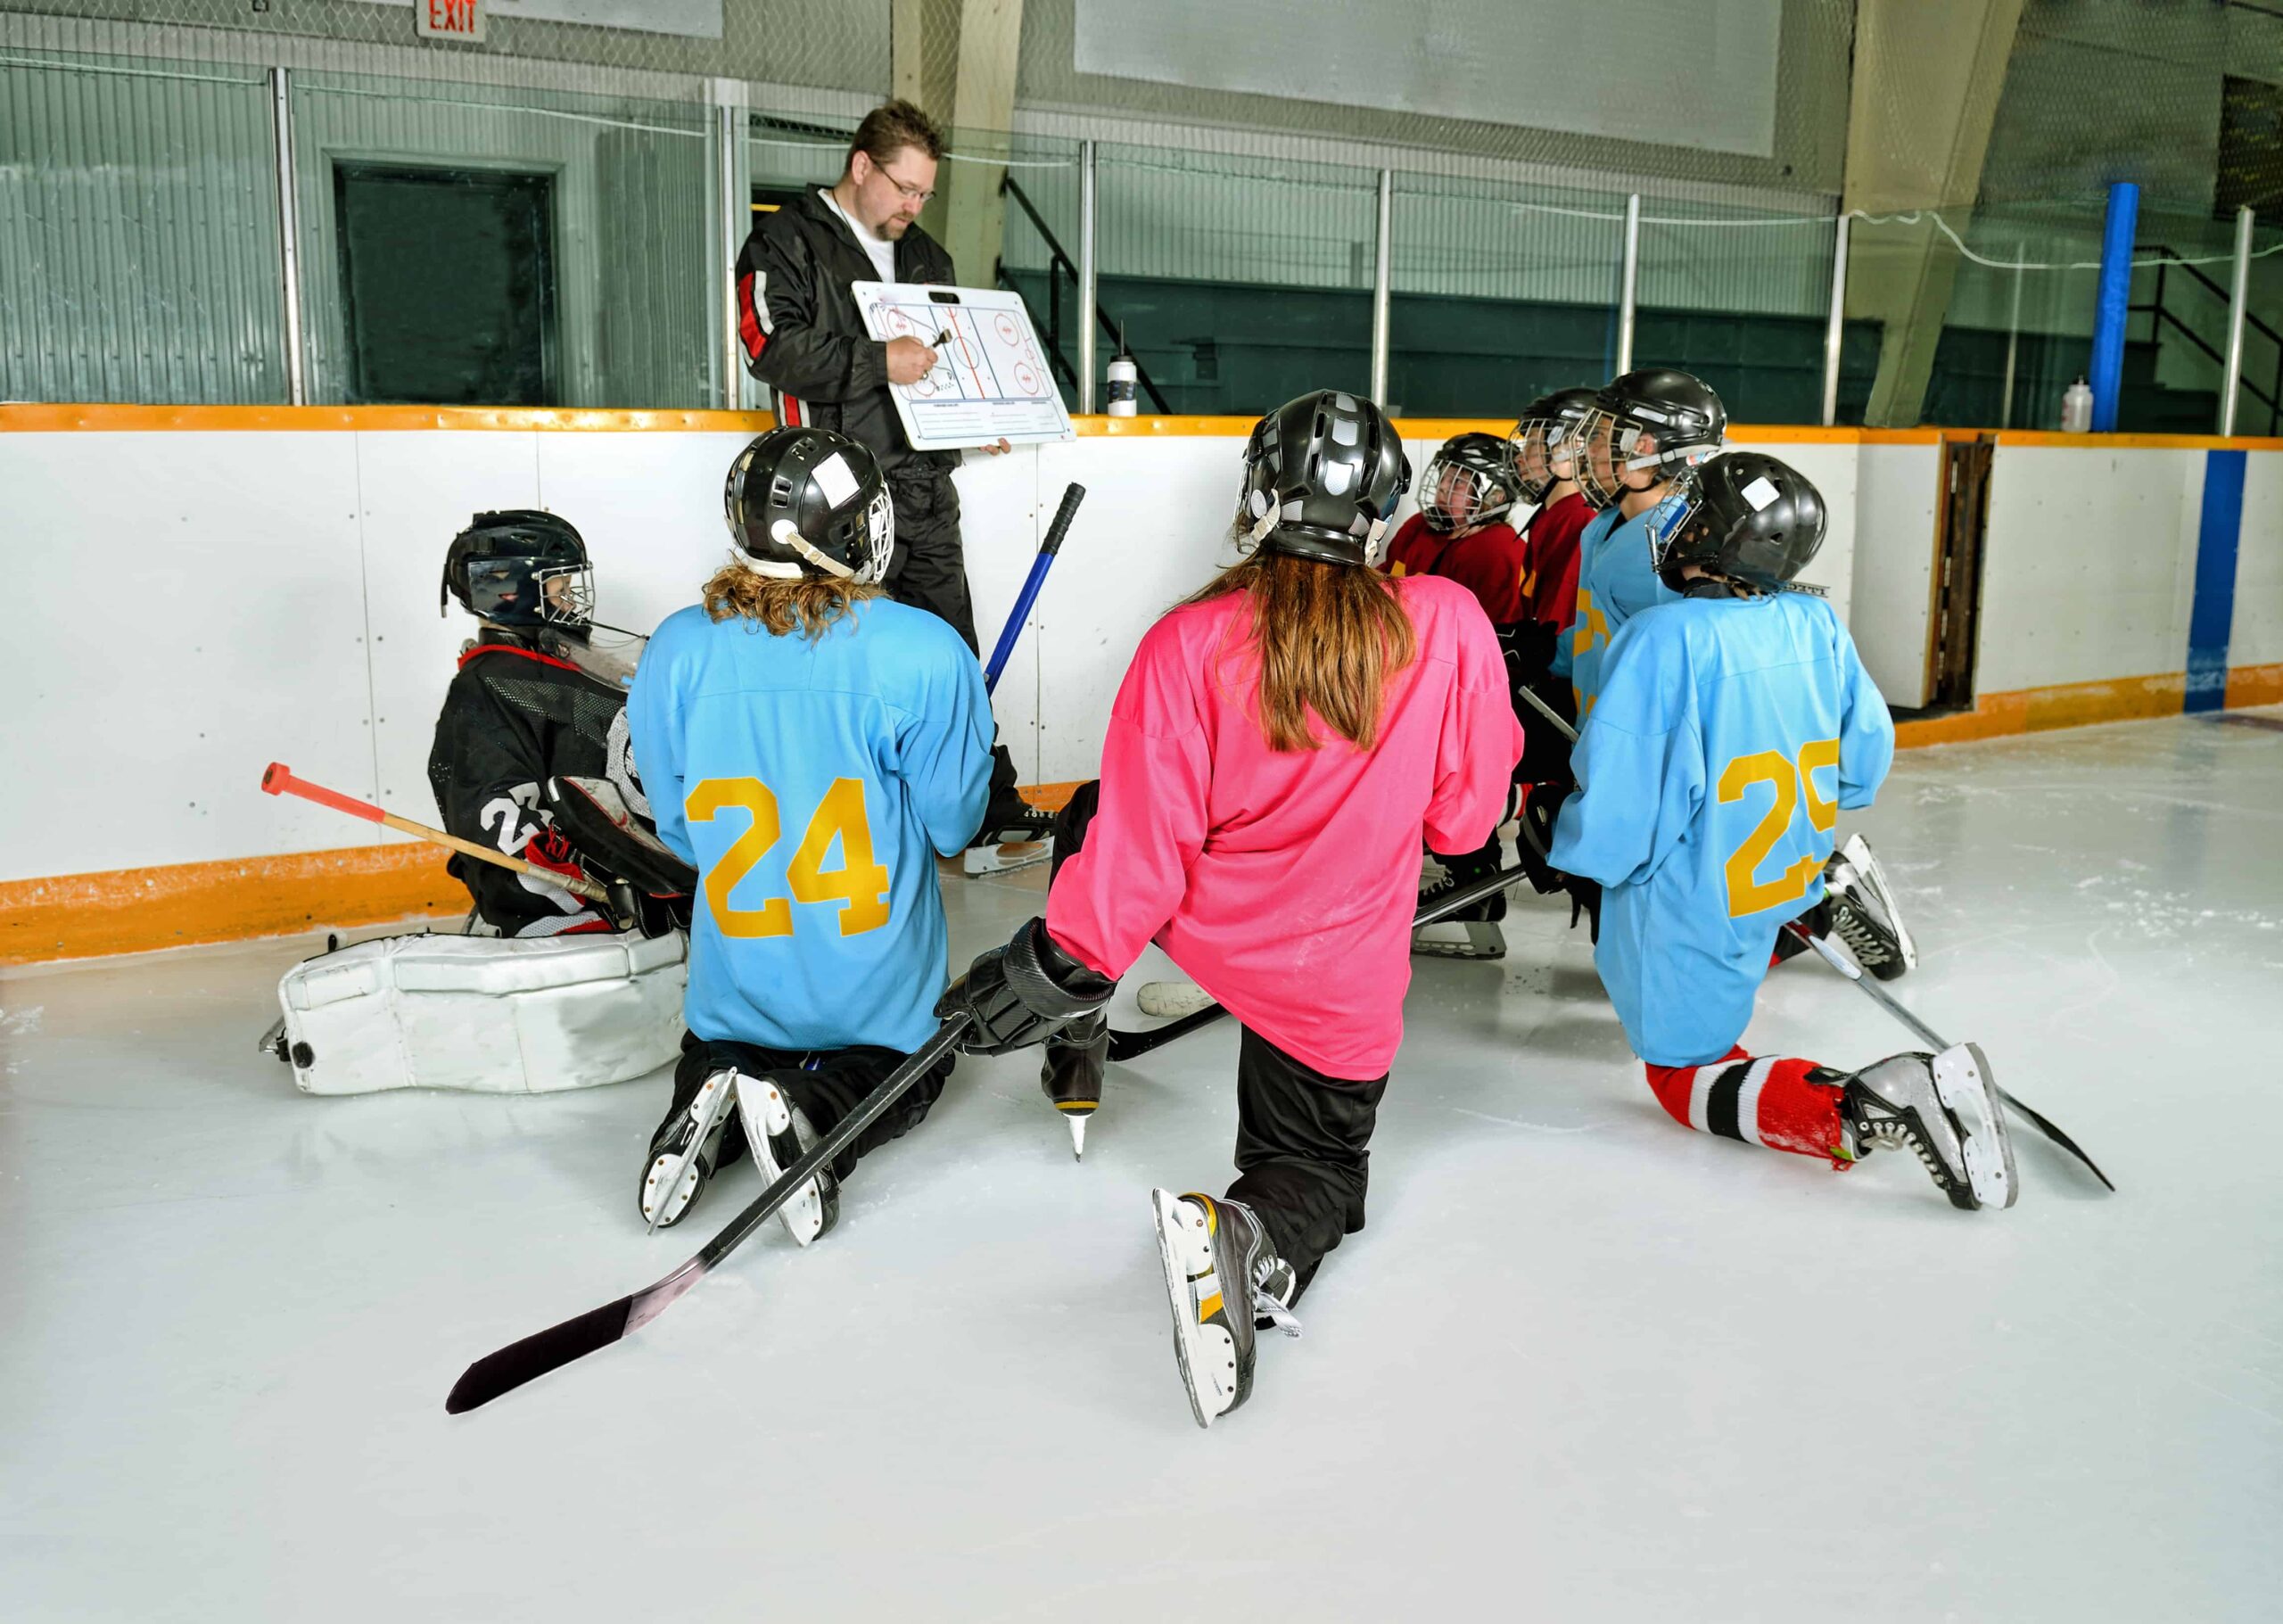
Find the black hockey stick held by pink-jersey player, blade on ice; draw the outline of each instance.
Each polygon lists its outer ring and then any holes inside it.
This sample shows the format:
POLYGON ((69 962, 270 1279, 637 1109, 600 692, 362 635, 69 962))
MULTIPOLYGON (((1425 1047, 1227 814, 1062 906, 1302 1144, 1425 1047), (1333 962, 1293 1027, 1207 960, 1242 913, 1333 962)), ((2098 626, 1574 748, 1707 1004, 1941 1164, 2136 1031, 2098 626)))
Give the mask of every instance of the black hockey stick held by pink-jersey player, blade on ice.
POLYGON ((747 1206, 728 1227, 705 1243, 705 1249, 694 1259, 676 1268, 671 1275, 653 1286, 644 1286, 630 1297, 619 1297, 600 1309, 589 1309, 578 1318, 564 1320, 562 1325, 550 1325, 548 1329, 525 1336, 521 1343, 509 1343, 498 1352, 489 1352, 466 1370, 452 1384, 452 1393, 443 1400, 445 1414, 461 1414, 479 1405, 489 1405, 500 1393, 511 1393, 525 1382, 534 1382, 548 1370, 559 1370, 573 1359, 584 1359, 591 1352, 610 1348, 614 1341, 639 1332, 644 1325, 655 1320, 660 1313, 673 1307, 673 1300, 685 1291, 696 1286, 712 1270, 715 1263, 726 1259, 737 1245, 751 1236, 760 1224, 765 1224, 776 1208, 790 1201, 833 1156, 845 1151, 858 1133, 872 1126, 888 1106, 900 1101, 913 1083, 918 1083, 929 1067, 934 1067, 943 1055, 952 1051, 959 1037, 968 1030, 968 1016, 957 1014, 936 1028, 936 1035, 920 1044, 911 1058, 881 1078, 881 1085, 863 1096, 863 1101, 842 1117, 831 1133, 817 1140, 801 1160, 792 1163, 785 1174, 772 1183, 760 1197, 747 1206))

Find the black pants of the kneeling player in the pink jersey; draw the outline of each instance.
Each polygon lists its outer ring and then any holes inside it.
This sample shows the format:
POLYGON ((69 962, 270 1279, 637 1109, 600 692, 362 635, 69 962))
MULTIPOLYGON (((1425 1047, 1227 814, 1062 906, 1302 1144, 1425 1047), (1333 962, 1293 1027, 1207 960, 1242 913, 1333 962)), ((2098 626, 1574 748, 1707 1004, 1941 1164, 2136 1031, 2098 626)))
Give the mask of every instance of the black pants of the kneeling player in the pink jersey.
MULTIPOLYGON (((1055 813, 1052 873, 1084 847, 1100 793, 1100 783, 1082 783, 1055 813)), ((1228 1199, 1260 1215, 1301 1291, 1324 1254, 1363 1229, 1372 1126, 1386 1090, 1386 1076, 1324 1076, 1251 1028, 1237 1044, 1237 1181, 1228 1199)))

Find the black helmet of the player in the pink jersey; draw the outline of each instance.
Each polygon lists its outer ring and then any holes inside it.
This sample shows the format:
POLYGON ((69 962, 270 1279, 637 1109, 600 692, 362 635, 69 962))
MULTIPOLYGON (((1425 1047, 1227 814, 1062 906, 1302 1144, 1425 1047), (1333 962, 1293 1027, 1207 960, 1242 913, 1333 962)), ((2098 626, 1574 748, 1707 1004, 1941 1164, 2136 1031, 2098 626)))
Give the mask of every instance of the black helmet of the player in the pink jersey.
POLYGON ((1372 544, 1409 489, 1404 443, 1379 402, 1320 388, 1253 425, 1237 532, 1320 564, 1370 564, 1372 544))

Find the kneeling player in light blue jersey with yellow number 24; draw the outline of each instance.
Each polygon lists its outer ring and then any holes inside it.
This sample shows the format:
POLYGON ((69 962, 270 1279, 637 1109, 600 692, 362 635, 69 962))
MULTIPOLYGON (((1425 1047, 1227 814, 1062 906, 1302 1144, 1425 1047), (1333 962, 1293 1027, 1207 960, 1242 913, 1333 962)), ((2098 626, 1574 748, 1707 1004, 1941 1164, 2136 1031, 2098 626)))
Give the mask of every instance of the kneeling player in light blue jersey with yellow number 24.
MULTIPOLYGON (((689 1037, 642 1163, 653 1224, 747 1147, 774 1181, 936 1030, 934 859, 966 847, 991 783, 975 653, 879 587, 895 516, 872 452, 772 429, 724 498, 731 562, 651 637, 630 701, 658 836, 701 873, 689 1037)), ((797 1243, 831 1229, 838 1179, 918 1126, 950 1069, 781 1208, 797 1243)))

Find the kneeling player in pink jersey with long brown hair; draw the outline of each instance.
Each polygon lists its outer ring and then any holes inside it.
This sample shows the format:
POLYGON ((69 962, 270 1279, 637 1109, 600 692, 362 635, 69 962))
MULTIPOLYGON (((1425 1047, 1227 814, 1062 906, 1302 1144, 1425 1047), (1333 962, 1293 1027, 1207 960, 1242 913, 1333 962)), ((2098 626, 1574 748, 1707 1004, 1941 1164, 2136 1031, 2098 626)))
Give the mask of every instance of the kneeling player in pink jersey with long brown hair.
POLYGON ((1297 1332, 1317 1263, 1363 1229, 1420 831, 1479 847, 1523 745, 1475 598, 1370 569, 1409 477, 1377 404, 1301 395, 1253 427, 1244 468, 1256 550, 1142 640, 1103 777, 1057 820, 1046 918, 943 1003, 973 1016, 973 1051, 1046 1039, 1055 1099, 1084 1067, 1100 1096, 1100 1051, 1071 1039, 1151 941, 1244 1023, 1235 1183, 1151 1195, 1199 1425, 1251 1391, 1256 1313, 1297 1332))

